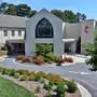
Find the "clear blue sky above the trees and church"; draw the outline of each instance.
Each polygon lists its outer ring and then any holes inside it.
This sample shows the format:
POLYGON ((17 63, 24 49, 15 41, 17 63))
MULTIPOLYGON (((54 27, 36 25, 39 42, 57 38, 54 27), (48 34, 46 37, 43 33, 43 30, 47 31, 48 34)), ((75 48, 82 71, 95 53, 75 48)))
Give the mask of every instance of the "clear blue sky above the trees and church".
POLYGON ((97 0, 3 0, 9 3, 26 3, 32 10, 71 10, 86 14, 89 19, 97 19, 97 0))

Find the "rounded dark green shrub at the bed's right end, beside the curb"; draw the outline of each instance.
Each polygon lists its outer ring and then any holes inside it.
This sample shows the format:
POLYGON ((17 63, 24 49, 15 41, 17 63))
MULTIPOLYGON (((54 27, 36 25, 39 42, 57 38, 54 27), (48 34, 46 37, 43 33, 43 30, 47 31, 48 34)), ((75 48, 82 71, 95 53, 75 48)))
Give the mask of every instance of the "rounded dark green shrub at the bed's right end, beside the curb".
POLYGON ((69 93, 74 93, 78 89, 78 86, 73 81, 66 81, 66 85, 68 86, 67 92, 69 93))

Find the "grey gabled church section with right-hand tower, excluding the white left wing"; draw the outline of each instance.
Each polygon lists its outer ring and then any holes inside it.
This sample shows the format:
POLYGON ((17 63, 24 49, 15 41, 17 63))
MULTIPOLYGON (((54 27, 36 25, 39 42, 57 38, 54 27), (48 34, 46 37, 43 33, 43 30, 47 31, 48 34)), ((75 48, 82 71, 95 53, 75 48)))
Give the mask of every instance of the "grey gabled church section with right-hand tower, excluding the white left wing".
POLYGON ((57 56, 85 54, 85 44, 94 42, 95 27, 94 19, 69 24, 43 9, 26 23, 25 54, 32 55, 36 43, 52 43, 57 56))

